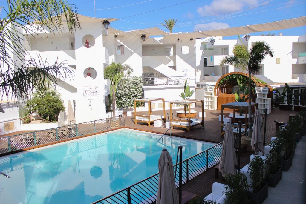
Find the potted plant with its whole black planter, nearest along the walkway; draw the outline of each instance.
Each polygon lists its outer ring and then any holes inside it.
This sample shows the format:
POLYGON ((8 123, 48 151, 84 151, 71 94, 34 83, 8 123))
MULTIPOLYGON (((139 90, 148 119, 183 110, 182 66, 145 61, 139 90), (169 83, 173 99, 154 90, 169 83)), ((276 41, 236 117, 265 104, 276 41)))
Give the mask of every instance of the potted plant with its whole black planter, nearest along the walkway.
POLYGON ((252 180, 251 203, 261 204, 268 197, 268 184, 264 183, 264 161, 260 156, 255 156, 248 166, 248 173, 252 180))

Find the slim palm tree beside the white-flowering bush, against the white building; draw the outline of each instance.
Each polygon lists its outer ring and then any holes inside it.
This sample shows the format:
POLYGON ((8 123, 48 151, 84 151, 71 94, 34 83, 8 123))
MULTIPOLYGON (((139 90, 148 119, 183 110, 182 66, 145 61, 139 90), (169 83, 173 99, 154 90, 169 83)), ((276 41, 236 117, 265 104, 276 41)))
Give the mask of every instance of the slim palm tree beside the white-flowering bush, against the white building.
POLYGON ((113 103, 113 117, 115 117, 115 103, 116 103, 116 88, 118 82, 124 79, 125 74, 131 75, 133 69, 130 65, 122 65, 121 63, 112 62, 104 68, 104 79, 110 79, 110 96, 112 96, 113 103))

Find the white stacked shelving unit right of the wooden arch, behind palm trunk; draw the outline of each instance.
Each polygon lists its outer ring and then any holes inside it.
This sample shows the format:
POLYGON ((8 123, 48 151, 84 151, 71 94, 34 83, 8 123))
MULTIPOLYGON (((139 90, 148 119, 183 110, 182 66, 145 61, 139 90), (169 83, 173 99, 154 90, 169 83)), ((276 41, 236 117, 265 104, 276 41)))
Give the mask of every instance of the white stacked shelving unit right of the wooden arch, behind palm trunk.
POLYGON ((269 87, 256 87, 256 103, 260 113, 264 113, 267 109, 267 114, 271 113, 271 98, 268 98, 269 87))

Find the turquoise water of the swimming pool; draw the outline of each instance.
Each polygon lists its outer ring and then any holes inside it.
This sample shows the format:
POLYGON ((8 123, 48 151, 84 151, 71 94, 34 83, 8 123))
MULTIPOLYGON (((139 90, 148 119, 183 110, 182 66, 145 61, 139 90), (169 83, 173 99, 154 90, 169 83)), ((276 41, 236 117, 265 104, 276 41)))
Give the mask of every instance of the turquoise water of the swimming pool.
POLYGON ((121 129, 0 158, 0 203, 91 203, 158 172, 166 148, 173 163, 213 143, 121 129))

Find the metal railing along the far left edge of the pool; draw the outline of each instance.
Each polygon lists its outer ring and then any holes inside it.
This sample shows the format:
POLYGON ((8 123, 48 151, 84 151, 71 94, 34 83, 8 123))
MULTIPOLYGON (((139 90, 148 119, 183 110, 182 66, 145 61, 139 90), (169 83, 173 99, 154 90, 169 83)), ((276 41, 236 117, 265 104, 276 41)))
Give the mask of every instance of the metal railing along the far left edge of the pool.
POLYGON ((125 125, 124 116, 66 125, 0 138, 0 154, 61 141, 81 135, 110 130, 125 125))

